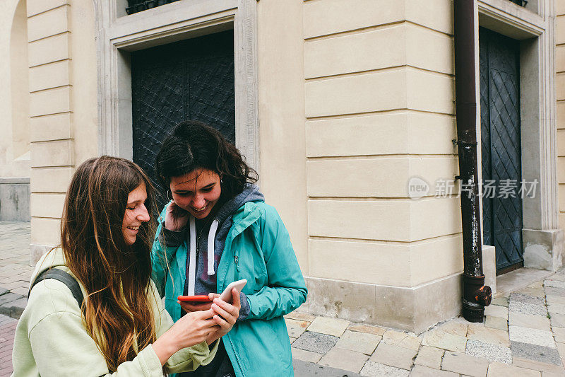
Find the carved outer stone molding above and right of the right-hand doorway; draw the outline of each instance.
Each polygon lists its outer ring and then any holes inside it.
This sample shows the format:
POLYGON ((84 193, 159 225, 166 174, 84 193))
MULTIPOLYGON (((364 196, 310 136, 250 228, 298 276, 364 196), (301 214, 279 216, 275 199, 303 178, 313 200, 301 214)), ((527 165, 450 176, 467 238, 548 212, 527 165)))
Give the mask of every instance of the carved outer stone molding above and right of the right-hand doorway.
POLYGON ((528 151, 522 161, 523 178, 539 181, 537 196, 523 201, 524 228, 559 228, 554 116, 554 1, 540 0, 537 13, 500 0, 478 0, 477 8, 481 26, 523 41, 522 149, 528 151))

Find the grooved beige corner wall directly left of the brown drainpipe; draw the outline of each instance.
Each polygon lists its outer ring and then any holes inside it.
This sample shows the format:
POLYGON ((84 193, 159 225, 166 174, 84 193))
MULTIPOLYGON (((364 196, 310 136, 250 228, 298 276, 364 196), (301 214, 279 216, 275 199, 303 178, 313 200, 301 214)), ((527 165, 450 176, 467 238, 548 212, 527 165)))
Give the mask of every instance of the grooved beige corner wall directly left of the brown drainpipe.
POLYGON ((413 287, 463 270, 451 1, 304 2, 309 272, 413 287), (408 198, 417 175, 432 185, 408 198))

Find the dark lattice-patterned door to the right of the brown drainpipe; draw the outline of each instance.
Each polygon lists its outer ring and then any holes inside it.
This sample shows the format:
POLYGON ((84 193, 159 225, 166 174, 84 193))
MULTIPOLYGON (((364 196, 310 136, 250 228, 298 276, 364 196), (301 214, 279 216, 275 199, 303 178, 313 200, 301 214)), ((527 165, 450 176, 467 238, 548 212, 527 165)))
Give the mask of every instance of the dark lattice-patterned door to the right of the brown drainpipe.
POLYGON ((484 28, 479 43, 483 242, 504 272, 523 265, 519 45, 484 28), (514 195, 505 193, 514 184, 514 195))

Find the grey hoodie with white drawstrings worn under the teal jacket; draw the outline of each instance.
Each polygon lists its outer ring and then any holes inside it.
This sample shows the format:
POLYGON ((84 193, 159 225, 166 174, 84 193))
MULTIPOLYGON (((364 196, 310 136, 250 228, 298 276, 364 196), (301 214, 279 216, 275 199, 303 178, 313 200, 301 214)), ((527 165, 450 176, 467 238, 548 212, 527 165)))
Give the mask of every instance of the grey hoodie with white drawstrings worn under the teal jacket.
MULTIPOLYGON (((184 294, 208 294, 210 292, 216 293, 216 272, 218 271, 218 264, 222 253, 224 251, 225 239, 227 238, 227 233, 232 227, 232 216, 247 202, 264 202, 265 197, 256 185, 248 184, 245 186, 244 190, 239 193, 233 199, 225 202, 222 207, 216 211, 213 218, 210 219, 194 219, 196 225, 195 229, 195 242, 196 246, 196 268, 195 268, 195 279, 191 280, 190 265, 191 258, 190 255, 186 255, 186 282, 184 284, 184 294), (211 221, 210 221, 211 220, 211 221), (217 226, 217 228, 216 228, 217 226), (213 248, 208 248, 208 240, 214 239, 213 248), (209 256, 213 255, 213 270, 212 264, 208 263, 210 259, 209 256), (194 289, 194 291, 192 291, 194 289)), ((193 220, 194 219, 194 220, 193 220)), ((190 221, 189 221, 190 223, 190 221)), ((182 231, 169 231, 166 227, 163 227, 163 233, 165 233, 165 244, 169 247, 179 246, 184 240, 186 240, 187 245, 191 245, 191 231, 190 226, 187 226, 182 231)), ((187 248, 187 254, 190 253, 191 248, 187 248)), ((221 292, 217 292, 221 293, 221 292)), ((244 320, 249 315, 249 303, 247 302, 245 294, 241 294, 242 308, 239 311, 239 320, 244 320)))

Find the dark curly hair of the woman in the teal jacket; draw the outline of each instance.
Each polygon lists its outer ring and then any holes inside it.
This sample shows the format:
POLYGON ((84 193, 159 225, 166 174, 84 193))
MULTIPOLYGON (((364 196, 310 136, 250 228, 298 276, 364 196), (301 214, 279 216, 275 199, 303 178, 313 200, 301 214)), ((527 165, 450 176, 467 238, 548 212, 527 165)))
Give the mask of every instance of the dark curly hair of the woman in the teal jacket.
POLYGON ((229 200, 258 180, 257 172, 244 161, 242 153, 215 128, 196 120, 174 127, 156 158, 157 178, 169 190, 172 177, 198 168, 212 170, 222 179, 220 199, 229 200))

